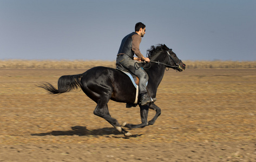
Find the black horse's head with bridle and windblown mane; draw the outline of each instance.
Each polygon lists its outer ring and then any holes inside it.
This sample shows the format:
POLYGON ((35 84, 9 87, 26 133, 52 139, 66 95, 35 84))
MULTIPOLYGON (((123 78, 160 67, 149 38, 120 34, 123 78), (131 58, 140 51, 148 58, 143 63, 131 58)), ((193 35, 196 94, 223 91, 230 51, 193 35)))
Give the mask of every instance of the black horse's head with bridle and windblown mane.
POLYGON ((147 56, 150 62, 165 65, 166 68, 172 68, 178 71, 186 69, 186 65, 165 44, 151 46, 151 49, 147 51, 147 56))

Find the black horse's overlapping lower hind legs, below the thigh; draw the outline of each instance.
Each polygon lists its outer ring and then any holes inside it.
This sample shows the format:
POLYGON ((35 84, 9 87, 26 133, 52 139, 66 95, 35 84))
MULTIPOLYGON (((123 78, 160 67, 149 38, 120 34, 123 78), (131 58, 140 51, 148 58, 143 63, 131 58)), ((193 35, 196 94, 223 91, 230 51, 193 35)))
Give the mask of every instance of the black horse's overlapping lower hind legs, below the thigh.
MULTIPOLYGON (((103 102, 104 103, 104 102, 103 102)), ((113 125, 119 132, 123 133, 124 136, 132 136, 131 133, 127 132, 126 130, 122 129, 121 125, 117 122, 115 118, 112 118, 110 116, 110 113, 108 111, 108 105, 103 104, 103 103, 98 103, 95 110, 94 114, 96 116, 102 117, 103 119, 107 120, 111 125, 113 125)))

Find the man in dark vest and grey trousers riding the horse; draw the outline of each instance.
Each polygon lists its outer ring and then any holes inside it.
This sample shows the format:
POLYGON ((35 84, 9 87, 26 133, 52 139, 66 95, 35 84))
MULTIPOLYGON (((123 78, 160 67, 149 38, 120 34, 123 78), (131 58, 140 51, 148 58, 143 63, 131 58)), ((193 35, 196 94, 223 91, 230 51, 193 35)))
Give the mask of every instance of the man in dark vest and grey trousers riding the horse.
POLYGON ((142 37, 145 35, 146 25, 139 22, 135 25, 135 32, 130 33, 122 39, 118 55, 116 58, 116 63, 121 64, 124 68, 128 69, 135 76, 137 76, 139 81, 139 91, 141 96, 141 105, 146 105, 152 102, 152 99, 147 94, 146 84, 148 81, 147 73, 142 69, 135 69, 135 61, 145 61, 150 62, 149 58, 144 57, 140 52, 140 43, 142 37), (137 57, 133 57, 134 54, 137 57))

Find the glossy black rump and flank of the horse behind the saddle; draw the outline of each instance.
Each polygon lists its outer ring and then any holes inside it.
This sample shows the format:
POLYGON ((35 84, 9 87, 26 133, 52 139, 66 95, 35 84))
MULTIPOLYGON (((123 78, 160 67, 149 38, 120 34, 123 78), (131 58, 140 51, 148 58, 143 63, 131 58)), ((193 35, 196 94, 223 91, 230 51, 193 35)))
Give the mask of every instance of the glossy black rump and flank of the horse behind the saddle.
POLYGON ((117 102, 129 102, 135 97, 136 89, 130 78, 114 68, 105 66, 91 68, 83 73, 81 83, 84 87, 82 90, 86 91, 87 96, 90 96, 88 93, 94 93, 93 91, 97 93, 108 91, 111 99, 117 102))

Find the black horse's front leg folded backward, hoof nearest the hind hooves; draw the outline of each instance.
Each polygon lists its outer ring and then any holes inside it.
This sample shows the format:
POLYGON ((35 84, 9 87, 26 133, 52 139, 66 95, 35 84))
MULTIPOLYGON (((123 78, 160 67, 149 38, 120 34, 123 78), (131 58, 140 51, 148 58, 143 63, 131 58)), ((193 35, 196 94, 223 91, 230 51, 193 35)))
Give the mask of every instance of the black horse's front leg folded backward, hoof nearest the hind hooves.
POLYGON ((129 129, 135 129, 139 127, 145 127, 148 125, 147 118, 148 118, 148 105, 141 106, 140 105, 140 116, 141 116, 141 124, 127 124, 124 123, 122 126, 128 127, 129 129))

